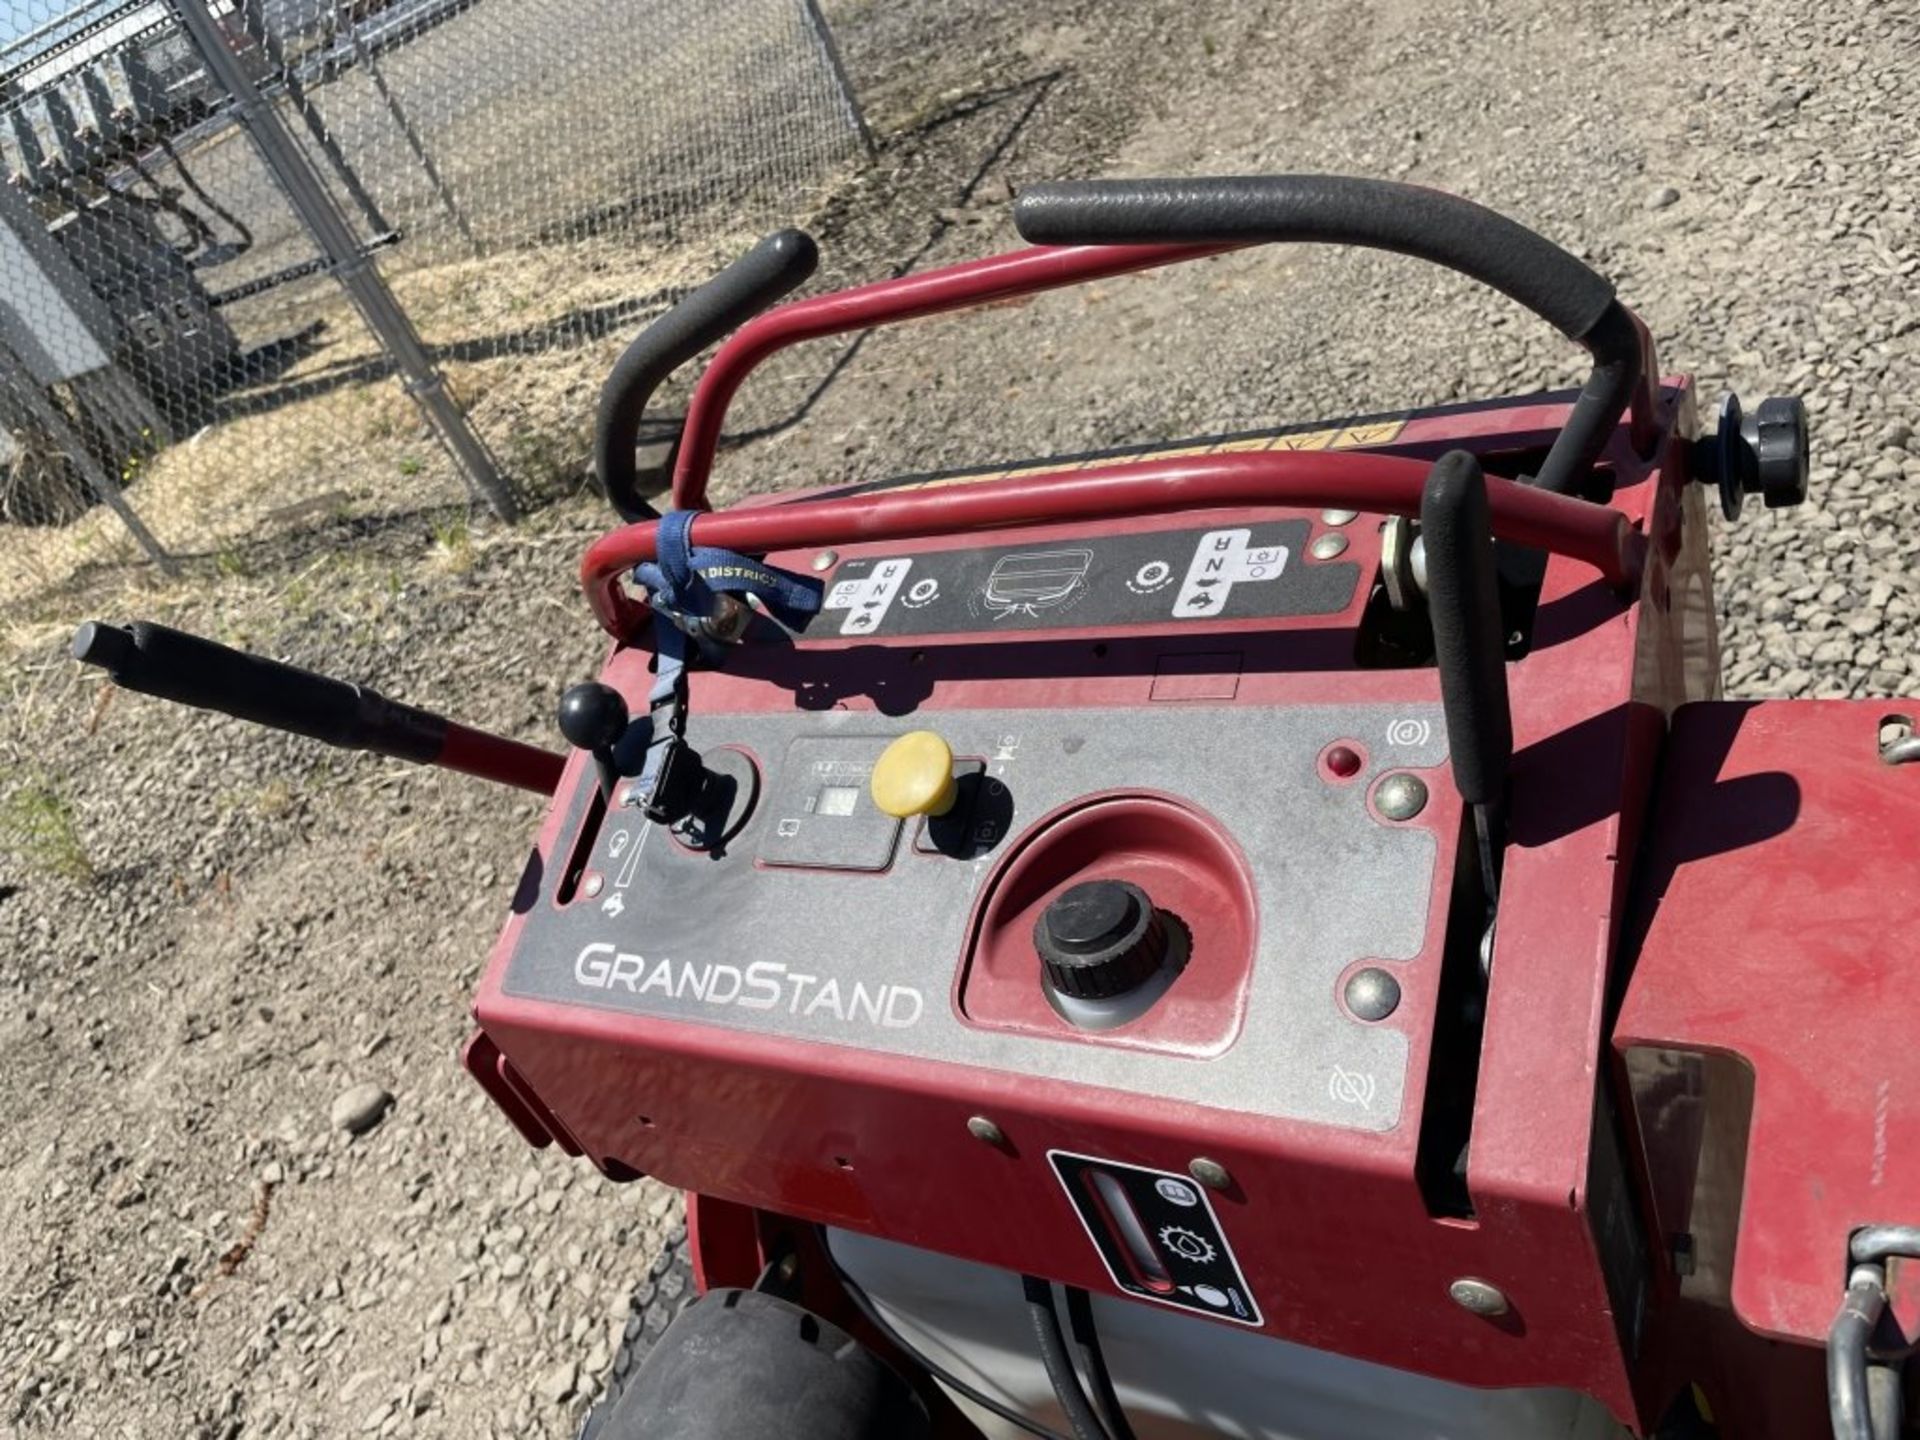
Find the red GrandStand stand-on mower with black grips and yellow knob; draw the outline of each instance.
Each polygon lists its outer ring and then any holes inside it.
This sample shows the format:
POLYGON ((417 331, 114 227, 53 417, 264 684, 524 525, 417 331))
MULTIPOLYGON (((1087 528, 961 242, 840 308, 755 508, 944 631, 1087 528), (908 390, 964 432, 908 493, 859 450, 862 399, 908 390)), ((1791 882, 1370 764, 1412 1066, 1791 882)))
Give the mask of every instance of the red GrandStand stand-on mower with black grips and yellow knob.
POLYGON ((530 1144, 684 1187, 703 1292, 589 1430, 1899 1434, 1920 737, 1722 701, 1707 564, 1709 497, 1807 497, 1799 401, 1697 434, 1607 280, 1430 190, 1050 184, 1016 221, 768 309, 814 265, 785 230, 622 355, 564 764, 77 637, 553 795, 465 1064, 530 1144), (1592 376, 707 509, 783 346, 1265 242, 1461 271, 1592 376), (641 411, 722 338, 655 515, 641 411))

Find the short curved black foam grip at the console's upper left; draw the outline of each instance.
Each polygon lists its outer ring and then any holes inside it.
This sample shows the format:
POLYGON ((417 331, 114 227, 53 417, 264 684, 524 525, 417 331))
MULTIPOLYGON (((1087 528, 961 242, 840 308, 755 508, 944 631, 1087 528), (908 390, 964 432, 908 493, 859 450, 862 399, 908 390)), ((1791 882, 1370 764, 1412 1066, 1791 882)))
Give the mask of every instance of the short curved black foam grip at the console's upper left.
MULTIPOLYGON (((593 417, 593 468, 622 520, 655 518, 639 495, 641 476, 634 459, 653 392, 689 359, 804 282, 818 263, 820 248, 810 234, 776 230, 641 330, 614 361, 593 417)), ((655 488, 662 470, 672 472, 672 455, 649 472, 655 488)))

